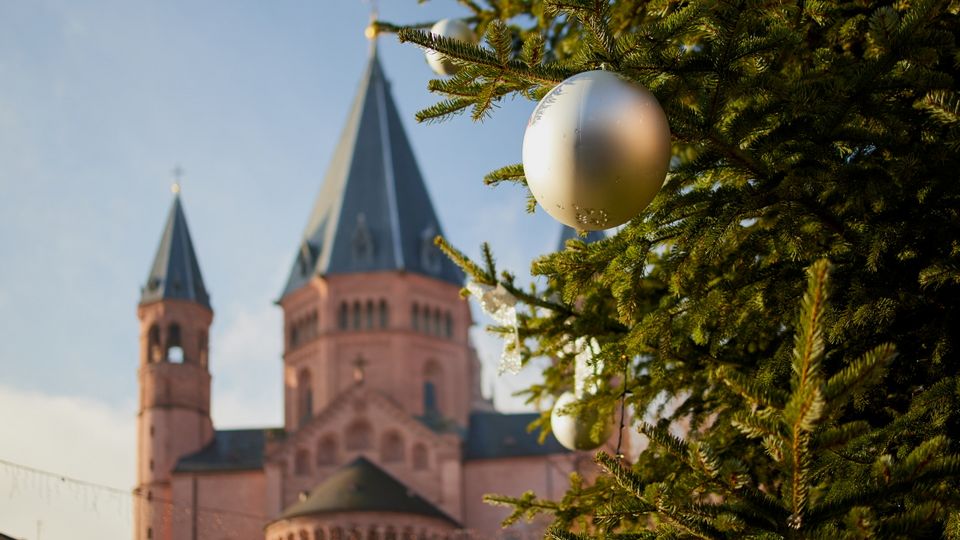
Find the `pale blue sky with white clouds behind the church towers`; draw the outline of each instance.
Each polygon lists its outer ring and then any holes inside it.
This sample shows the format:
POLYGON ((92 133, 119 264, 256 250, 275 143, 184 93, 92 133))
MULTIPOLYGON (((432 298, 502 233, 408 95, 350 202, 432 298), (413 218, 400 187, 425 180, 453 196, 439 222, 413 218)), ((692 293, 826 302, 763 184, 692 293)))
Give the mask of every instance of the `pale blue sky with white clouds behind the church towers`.
MULTIPOLYGON (((465 15, 414 0, 380 11, 465 15)), ((359 0, 0 0, 0 459, 132 485, 136 304, 178 163, 216 312, 214 421, 281 423, 273 302, 364 69, 368 17, 359 0)), ((519 161, 534 104, 508 101, 483 124, 417 125, 432 74, 419 49, 380 39, 447 236, 470 254, 490 241, 524 275, 559 225, 482 176, 519 161)), ((476 334, 492 367, 499 344, 476 334)), ((498 403, 516 407, 501 398, 524 377, 491 372, 498 403)), ((47 519, 43 536, 60 536, 51 500, 8 496, 4 481, 0 468, 0 530, 34 538, 47 519)), ((100 521, 70 534, 129 532, 120 517, 100 521)))

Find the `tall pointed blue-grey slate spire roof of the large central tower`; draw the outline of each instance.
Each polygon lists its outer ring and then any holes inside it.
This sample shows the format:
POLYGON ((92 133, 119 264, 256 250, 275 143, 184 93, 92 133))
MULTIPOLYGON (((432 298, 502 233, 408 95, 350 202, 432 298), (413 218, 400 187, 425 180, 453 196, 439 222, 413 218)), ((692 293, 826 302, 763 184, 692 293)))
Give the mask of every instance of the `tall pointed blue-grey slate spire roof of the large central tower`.
POLYGON ((430 194, 372 49, 282 296, 314 275, 406 270, 461 285, 434 245, 430 194))

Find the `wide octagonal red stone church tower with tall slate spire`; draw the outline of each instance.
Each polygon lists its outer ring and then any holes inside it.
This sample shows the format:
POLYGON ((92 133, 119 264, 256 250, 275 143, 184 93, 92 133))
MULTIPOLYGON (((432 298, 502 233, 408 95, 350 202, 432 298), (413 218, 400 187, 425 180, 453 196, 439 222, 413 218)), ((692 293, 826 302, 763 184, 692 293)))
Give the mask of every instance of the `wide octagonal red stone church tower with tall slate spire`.
POLYGON ((288 433, 358 378, 411 416, 467 425, 479 363, 439 234, 374 43, 280 299, 288 433))

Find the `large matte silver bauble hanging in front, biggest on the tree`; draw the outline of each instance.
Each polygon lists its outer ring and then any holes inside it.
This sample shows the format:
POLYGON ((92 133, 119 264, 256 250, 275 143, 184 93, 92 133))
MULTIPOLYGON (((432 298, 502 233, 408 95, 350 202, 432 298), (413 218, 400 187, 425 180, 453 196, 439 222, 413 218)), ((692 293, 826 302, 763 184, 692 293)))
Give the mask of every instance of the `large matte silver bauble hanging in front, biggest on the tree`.
POLYGON ((646 88, 587 71, 550 91, 523 136, 523 171, 540 206, 577 230, 626 223, 670 165, 670 126, 646 88))

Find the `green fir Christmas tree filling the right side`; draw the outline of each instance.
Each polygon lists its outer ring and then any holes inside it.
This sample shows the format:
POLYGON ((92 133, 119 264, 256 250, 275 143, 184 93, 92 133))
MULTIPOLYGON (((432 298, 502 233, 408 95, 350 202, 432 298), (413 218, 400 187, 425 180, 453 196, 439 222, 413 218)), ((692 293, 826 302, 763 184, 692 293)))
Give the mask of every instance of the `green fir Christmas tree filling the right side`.
MULTIPOLYGON (((625 405, 650 441, 598 452, 604 473, 563 500, 490 496, 508 522, 551 513, 558 539, 960 538, 960 3, 459 4, 479 44, 378 23, 457 68, 420 121, 605 69, 649 89, 672 134, 650 206, 533 261, 544 289, 439 241, 518 299, 523 361, 556 359, 531 402, 569 390, 570 344, 596 340, 599 390, 572 412, 600 411, 600 432, 625 405)), ((486 182, 526 185, 523 165, 486 182)))

